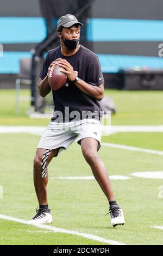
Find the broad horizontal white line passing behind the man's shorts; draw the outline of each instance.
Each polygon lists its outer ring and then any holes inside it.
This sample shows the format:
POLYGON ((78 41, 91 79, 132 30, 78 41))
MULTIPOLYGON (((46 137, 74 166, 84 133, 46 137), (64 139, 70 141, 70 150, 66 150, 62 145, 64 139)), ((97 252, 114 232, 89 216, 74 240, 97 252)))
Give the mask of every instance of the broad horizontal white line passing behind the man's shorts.
MULTIPOLYGON (((0 126, 0 133, 34 133, 35 135, 42 135, 45 131, 45 126, 0 126)), ((105 133, 108 127, 102 125, 102 131, 105 133)), ((163 125, 112 125, 109 133, 118 132, 163 132, 163 125)))

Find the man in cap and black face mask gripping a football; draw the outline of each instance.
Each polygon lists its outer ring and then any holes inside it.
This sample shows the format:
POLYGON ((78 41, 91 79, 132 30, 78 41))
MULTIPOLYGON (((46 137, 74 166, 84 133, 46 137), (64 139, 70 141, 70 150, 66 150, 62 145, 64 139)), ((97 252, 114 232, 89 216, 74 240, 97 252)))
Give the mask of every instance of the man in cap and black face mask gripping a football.
POLYGON ((47 200, 47 166, 53 157, 76 139, 108 199, 111 224, 114 227, 124 224, 123 211, 115 201, 107 170, 97 154, 101 146, 99 116, 102 109, 99 101, 104 96, 104 79, 96 54, 79 44, 81 26, 83 24, 71 14, 59 19, 57 31, 60 46, 48 52, 40 72, 38 88, 42 97, 51 91, 48 72, 53 65, 60 65, 60 71, 67 75, 68 83, 53 91, 54 117, 43 133, 34 158, 34 186, 39 210, 36 210, 37 214, 29 221, 30 224, 52 223, 47 200))

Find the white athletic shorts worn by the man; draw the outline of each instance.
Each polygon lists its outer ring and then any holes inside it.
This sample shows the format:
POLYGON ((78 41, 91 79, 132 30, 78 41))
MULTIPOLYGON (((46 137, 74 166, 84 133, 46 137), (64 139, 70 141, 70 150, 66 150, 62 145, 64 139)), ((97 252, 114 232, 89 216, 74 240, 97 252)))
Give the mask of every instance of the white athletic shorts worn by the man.
POLYGON ((51 121, 43 132, 37 148, 57 149, 58 154, 67 149, 76 139, 80 145, 83 138, 91 137, 98 141, 97 150, 101 147, 101 123, 94 119, 71 121, 70 123, 57 123, 51 121))

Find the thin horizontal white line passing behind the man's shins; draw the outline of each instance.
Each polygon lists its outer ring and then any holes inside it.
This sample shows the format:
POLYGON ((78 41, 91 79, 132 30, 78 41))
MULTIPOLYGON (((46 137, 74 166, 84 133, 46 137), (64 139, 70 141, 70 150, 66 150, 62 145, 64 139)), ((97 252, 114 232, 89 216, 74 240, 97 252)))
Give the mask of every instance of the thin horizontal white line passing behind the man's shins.
MULTIPOLYGON (((122 175, 112 175, 109 176, 111 180, 129 180, 131 179, 128 176, 122 175)), ((52 180, 95 180, 94 176, 58 176, 58 177, 51 177, 52 180)))

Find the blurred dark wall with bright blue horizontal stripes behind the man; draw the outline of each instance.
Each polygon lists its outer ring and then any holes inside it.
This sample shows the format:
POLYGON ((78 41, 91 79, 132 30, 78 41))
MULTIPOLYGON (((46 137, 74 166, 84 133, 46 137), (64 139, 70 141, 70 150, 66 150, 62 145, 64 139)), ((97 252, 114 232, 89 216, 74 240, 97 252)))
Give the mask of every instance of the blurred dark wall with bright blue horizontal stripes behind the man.
MULTIPOLYGON (((66 3, 66 1, 65 1, 66 3)), ((39 0, 0 0, 0 88, 15 87, 20 59, 47 36, 39 0)), ((162 0, 96 0, 86 21, 87 47, 101 61, 105 81, 117 82, 121 69, 162 69, 162 0), (109 80, 110 79, 110 80, 109 80)), ((56 17, 55 24, 59 17, 56 17)))

